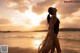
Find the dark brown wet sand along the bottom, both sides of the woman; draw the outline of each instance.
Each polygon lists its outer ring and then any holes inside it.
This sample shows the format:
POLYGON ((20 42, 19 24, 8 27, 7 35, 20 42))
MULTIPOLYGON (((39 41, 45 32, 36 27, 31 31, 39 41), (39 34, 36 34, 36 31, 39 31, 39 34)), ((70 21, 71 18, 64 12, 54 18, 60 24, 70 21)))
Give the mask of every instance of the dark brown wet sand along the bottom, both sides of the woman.
MULTIPOLYGON (((38 52, 36 49, 31 49, 31 48, 24 49, 18 47, 9 47, 8 53, 38 53, 38 52)), ((62 49, 62 53, 79 53, 79 52, 73 49, 62 49)))

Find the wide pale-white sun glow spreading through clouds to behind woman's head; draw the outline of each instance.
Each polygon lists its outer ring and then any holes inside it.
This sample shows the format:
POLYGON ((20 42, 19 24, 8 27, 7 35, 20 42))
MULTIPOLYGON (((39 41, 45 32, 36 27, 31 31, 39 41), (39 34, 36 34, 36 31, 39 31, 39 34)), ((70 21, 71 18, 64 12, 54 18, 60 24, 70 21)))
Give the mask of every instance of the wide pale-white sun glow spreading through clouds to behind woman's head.
MULTIPOLYGON (((38 15, 32 11, 32 8, 30 7, 29 10, 26 10, 24 13, 20 13, 18 11, 15 11, 17 13, 16 17, 13 17, 12 24, 13 25, 22 25, 24 28, 32 29, 33 27, 37 27, 40 25, 42 20, 46 20, 46 17, 48 15, 47 12, 42 13, 41 15, 38 15)), ((57 17, 60 18, 60 14, 57 13, 57 17)))

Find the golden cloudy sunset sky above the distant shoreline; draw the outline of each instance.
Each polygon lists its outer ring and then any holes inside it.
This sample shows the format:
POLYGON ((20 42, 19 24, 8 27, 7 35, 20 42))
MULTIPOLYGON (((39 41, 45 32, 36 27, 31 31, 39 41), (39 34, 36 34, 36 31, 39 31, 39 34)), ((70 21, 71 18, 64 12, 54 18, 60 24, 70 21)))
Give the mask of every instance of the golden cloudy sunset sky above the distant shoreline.
POLYGON ((0 31, 47 29, 49 7, 57 8, 60 28, 80 28, 80 2, 68 1, 74 0, 0 0, 0 31))

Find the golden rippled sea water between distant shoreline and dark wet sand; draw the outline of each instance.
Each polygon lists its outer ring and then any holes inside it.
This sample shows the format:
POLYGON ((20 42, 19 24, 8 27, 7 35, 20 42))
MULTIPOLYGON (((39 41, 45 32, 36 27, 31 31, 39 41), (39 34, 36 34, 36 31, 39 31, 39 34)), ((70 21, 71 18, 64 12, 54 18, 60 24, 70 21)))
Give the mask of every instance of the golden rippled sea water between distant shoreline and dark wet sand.
MULTIPOLYGON (((7 44, 9 47, 37 48, 46 34, 47 32, 0 33, 0 44, 7 44)), ((58 38, 62 49, 80 51, 79 31, 59 32, 58 38)))

